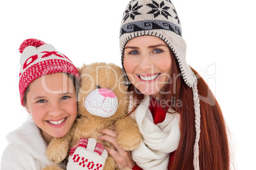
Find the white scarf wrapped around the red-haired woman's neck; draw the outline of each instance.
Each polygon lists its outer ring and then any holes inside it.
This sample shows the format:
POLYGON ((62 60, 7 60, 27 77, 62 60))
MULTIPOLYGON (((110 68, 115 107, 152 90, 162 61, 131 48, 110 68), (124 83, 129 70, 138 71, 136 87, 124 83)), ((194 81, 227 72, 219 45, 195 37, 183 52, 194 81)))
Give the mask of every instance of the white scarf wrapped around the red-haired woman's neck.
MULTIPOLYGON (((143 142, 132 151, 132 159, 142 169, 167 169, 169 154, 176 150, 180 141, 180 114, 166 114, 164 122, 153 123, 148 108, 150 96, 146 96, 138 108, 132 113, 136 119, 143 142)), ((132 108, 130 100, 129 110, 132 108)), ((169 112, 174 112, 169 108, 169 112)))

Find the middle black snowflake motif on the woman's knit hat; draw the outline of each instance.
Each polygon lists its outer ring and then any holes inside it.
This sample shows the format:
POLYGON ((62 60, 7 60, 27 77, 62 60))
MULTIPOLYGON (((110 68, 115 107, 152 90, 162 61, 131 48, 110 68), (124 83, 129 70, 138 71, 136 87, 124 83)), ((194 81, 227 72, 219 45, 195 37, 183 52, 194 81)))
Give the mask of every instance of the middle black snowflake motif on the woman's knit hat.
POLYGON ((169 7, 164 4, 164 1, 158 4, 157 2, 152 0, 152 4, 146 4, 146 6, 152 8, 152 10, 148 12, 148 14, 153 13, 154 18, 159 15, 163 15, 168 19, 168 16, 171 16, 171 14, 169 14, 167 11, 169 10, 169 7))

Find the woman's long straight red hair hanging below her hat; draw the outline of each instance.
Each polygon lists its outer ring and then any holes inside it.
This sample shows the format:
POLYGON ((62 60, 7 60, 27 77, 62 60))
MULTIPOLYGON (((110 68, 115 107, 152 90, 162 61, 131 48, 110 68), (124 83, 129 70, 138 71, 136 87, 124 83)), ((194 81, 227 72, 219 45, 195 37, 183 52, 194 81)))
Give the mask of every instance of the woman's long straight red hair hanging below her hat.
MULTIPOLYGON (((171 106, 176 112, 180 113, 180 143, 174 155, 173 162, 169 162, 168 169, 194 169, 194 143, 196 138, 195 112, 192 88, 189 88, 180 74, 178 63, 172 57, 172 75, 173 83, 167 84, 162 89, 169 91, 167 95, 161 95, 159 100, 170 101, 170 98, 180 100, 181 105, 171 106), (171 166, 170 166, 171 165, 171 166)), ((199 140, 199 166, 200 169, 207 170, 226 170, 229 169, 229 143, 227 140, 227 129, 225 126, 222 110, 218 102, 211 93, 210 88, 203 78, 192 69, 197 75, 197 89, 200 98, 201 111, 201 133, 199 140)), ((129 90, 135 101, 143 100, 143 94, 138 93, 132 84, 129 90)), ((138 106, 138 103, 137 105, 138 106)), ((132 110, 132 112, 136 109, 132 110)), ((167 109, 167 108, 166 108, 167 109)), ((132 113, 131 112, 131 113, 132 113)), ((130 113, 130 114, 131 114, 130 113)), ((171 114, 171 113, 169 113, 171 114)))

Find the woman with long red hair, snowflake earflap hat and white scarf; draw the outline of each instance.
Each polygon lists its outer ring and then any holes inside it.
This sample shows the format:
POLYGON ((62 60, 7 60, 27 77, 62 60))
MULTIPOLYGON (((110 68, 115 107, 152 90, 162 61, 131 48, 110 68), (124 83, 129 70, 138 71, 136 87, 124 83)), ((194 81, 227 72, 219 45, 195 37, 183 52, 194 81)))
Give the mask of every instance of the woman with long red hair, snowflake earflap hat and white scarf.
POLYGON ((120 167, 132 169, 229 169, 224 117, 206 82, 188 66, 186 44, 173 3, 132 0, 120 29, 122 67, 131 93, 130 114, 143 143, 129 153, 113 131, 102 138, 120 167), (118 158, 122 157, 122 159, 118 158))

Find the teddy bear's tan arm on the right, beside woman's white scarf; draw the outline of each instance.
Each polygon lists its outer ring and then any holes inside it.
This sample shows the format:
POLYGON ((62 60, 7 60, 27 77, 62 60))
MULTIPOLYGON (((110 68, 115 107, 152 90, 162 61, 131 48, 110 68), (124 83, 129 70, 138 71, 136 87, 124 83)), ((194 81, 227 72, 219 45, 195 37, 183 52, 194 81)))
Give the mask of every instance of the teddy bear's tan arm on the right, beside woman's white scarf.
POLYGON ((138 124, 132 117, 125 117, 116 123, 117 126, 117 143, 124 150, 134 150, 142 141, 138 124))

